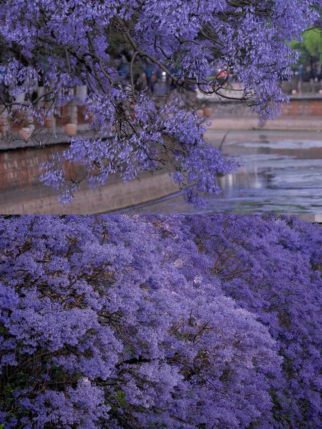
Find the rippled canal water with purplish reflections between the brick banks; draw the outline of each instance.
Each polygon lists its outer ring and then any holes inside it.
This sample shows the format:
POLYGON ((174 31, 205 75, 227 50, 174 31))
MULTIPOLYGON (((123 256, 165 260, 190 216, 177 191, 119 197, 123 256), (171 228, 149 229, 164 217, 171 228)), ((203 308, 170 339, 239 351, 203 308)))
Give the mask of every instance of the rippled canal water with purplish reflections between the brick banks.
MULTIPOLYGON (((219 146, 224 134, 209 130, 207 139, 219 146)), ((177 195, 126 212, 322 213, 322 132, 232 130, 222 149, 243 160, 244 166, 218 178, 222 192, 206 196, 205 210, 185 204, 177 195)))

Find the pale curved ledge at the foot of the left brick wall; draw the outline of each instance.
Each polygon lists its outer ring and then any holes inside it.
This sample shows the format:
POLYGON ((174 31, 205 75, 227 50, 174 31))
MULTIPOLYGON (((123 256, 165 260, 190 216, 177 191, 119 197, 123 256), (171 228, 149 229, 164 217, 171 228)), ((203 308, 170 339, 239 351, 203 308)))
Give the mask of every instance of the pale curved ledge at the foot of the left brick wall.
POLYGON ((98 214, 158 200, 179 191, 168 172, 142 173, 123 183, 111 177, 108 184, 88 189, 82 184, 72 203, 61 205, 57 195, 42 184, 7 190, 0 195, 2 214, 98 214))

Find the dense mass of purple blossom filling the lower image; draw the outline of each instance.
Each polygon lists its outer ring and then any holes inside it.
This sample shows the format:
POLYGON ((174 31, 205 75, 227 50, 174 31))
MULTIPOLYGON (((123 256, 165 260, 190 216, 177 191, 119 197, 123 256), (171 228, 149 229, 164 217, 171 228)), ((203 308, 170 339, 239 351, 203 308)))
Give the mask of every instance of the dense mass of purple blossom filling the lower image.
POLYGON ((0 424, 320 427, 322 230, 0 219, 0 424))

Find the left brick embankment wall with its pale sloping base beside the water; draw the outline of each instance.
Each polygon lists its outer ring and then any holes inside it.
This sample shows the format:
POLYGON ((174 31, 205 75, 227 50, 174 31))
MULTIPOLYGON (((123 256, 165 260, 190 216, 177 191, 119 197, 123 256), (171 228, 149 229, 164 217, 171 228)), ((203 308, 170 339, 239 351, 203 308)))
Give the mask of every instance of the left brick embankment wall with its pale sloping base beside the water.
MULTIPOLYGON (((140 180, 126 184, 114 175, 105 186, 95 190, 84 182, 72 203, 61 205, 57 193, 39 182, 39 166, 50 159, 51 154, 61 152, 66 143, 49 145, 46 148, 25 147, 0 150, 0 212, 2 214, 93 214, 117 210, 165 197, 179 191, 169 177, 168 171, 159 171, 153 176, 146 172, 140 180)), ((70 165, 70 164, 69 164, 70 165)), ((69 165, 65 165, 68 174, 69 165)), ((84 170, 73 165, 80 176, 84 170)))

